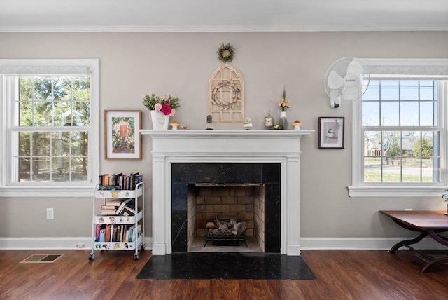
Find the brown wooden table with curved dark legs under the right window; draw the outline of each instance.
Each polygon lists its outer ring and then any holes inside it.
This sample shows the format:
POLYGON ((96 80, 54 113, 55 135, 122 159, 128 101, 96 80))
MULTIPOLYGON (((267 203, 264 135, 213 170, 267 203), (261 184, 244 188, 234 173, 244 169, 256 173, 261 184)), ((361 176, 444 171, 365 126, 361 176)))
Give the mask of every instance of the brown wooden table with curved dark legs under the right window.
MULTIPOLYGON (((390 253, 395 253, 398 248, 405 246, 410 250, 414 250, 410 245, 419 243, 424 237, 430 236, 434 240, 437 240, 442 245, 448 246, 448 238, 440 235, 439 233, 448 231, 448 216, 444 214, 444 211, 435 210, 381 210, 381 214, 385 214, 391 217, 396 224, 402 226, 405 229, 421 232, 419 236, 411 240, 402 240, 396 243, 390 253)), ((417 251, 416 251, 417 252, 417 251)), ((423 252, 418 252, 421 258, 423 258, 427 264, 421 269, 424 273, 428 271, 431 266, 448 263, 448 255, 439 259, 433 259, 423 252)))

